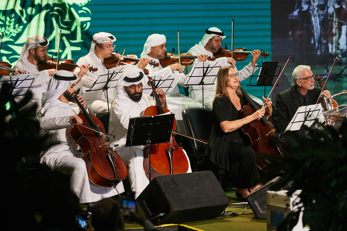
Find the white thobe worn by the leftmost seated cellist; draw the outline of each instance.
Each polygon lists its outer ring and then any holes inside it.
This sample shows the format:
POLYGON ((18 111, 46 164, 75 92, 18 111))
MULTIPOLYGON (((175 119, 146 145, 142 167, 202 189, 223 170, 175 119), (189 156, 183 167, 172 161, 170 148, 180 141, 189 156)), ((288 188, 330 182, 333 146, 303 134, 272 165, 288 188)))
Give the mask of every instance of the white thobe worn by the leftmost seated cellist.
POLYGON ((40 155, 40 163, 52 171, 71 174, 70 188, 79 198, 79 203, 100 201, 103 198, 124 192, 123 183, 115 188, 104 188, 90 183, 87 168, 81 152, 76 152, 77 145, 68 134, 66 128, 73 127, 70 116, 75 115, 69 104, 60 100, 54 101, 40 119, 40 134, 49 134, 50 141, 57 143, 40 155))

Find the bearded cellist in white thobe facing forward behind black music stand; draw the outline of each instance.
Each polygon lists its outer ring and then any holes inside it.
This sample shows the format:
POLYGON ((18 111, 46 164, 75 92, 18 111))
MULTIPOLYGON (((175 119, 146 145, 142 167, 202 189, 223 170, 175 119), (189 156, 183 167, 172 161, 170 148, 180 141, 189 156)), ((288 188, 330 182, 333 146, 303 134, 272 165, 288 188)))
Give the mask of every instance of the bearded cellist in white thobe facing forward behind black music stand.
MULTIPOLYGON (((130 65, 129 65, 130 66, 130 65)), ((110 139, 111 144, 118 144, 116 151, 123 159, 128 169, 128 177, 135 198, 149 184, 143 169, 144 146, 125 147, 129 119, 139 117, 149 106, 155 106, 155 100, 142 94, 143 85, 147 84, 147 78, 142 70, 130 66, 125 70, 118 81, 117 94, 112 101, 110 110, 109 133, 115 135, 110 139)), ((162 89, 156 89, 160 103, 167 107, 166 97, 162 89)), ((189 161, 188 161, 189 164, 189 161)), ((190 164, 188 171, 191 172, 190 164)))

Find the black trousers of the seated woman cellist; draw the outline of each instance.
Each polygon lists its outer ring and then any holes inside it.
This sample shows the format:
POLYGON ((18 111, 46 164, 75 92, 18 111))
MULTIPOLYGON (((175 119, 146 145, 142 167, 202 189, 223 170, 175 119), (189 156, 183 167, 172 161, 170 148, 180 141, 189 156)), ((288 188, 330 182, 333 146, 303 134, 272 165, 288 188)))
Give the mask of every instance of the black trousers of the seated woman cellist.
MULTIPOLYGON (((250 188, 259 182, 259 171, 255 162, 255 153, 252 148, 244 145, 231 144, 228 145, 228 159, 230 167, 232 162, 238 162, 237 169, 237 188, 250 188)), ((230 169, 235 171, 235 169, 230 169)))

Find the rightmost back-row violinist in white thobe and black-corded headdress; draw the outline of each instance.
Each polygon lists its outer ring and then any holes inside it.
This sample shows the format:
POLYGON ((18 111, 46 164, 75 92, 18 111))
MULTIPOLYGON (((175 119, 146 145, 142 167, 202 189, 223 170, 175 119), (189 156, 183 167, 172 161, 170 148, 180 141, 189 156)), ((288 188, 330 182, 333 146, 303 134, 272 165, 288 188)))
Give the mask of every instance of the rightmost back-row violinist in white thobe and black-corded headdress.
MULTIPOLYGON (((188 53, 191 53, 192 55, 197 55, 197 54, 207 54, 208 56, 212 57, 213 53, 218 52, 219 49, 222 46, 222 40, 226 36, 224 33, 218 29, 217 27, 211 27, 206 30, 205 35, 202 37, 202 40, 198 43, 195 44, 192 48, 189 49, 188 53)), ((226 59, 227 62, 235 68, 235 71, 239 73, 239 80, 245 80, 247 79, 254 71, 258 69, 256 62, 258 61, 260 57, 260 50, 253 50, 251 51, 252 54, 252 61, 245 66, 242 70, 238 71, 236 69, 236 61, 232 57, 220 57, 218 60, 226 59)), ((194 63, 197 60, 194 61, 194 63)), ((193 64, 194 64, 193 63, 193 64)), ((193 68, 193 65, 190 66, 184 66, 183 72, 185 74, 189 74, 193 68)), ((212 100, 215 95, 215 90, 216 90, 216 85, 205 85, 204 86, 204 106, 207 108, 212 108, 212 100)), ((189 86, 189 97, 192 99, 202 103, 202 86, 201 85, 196 85, 196 86, 189 86)), ((252 96, 253 98, 254 96, 252 96)), ((259 101, 260 99, 254 97, 256 101, 259 101)), ((259 102, 261 103, 261 100, 259 102)))

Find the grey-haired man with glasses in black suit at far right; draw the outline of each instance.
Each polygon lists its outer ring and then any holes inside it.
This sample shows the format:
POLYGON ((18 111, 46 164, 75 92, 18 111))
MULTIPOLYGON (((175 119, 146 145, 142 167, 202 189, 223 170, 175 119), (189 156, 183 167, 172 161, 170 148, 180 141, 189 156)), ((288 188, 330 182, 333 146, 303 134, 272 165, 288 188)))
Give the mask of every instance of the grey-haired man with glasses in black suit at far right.
MULTIPOLYGON (((276 96, 272 120, 278 133, 286 130, 299 107, 315 104, 322 90, 314 87, 315 75, 311 71, 311 66, 297 66, 293 70, 292 77, 294 85, 276 96)), ((322 94, 327 98, 331 97, 328 90, 324 90, 322 94)), ((305 136, 304 131, 299 131, 298 134, 305 136)), ((290 137, 285 135, 284 139, 289 142, 290 137)))

